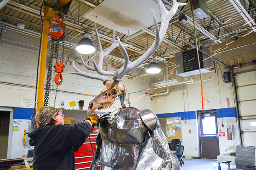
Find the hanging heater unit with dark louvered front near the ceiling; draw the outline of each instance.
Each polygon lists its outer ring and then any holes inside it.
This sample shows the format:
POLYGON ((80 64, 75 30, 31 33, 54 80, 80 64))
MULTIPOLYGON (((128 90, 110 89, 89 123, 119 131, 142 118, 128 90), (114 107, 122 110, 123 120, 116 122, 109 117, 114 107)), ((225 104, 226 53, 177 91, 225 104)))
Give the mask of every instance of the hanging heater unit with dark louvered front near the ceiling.
MULTIPOLYGON (((206 48, 203 51, 209 53, 206 48)), ((211 72, 211 60, 204 59, 208 58, 207 55, 199 52, 201 73, 211 72), (207 68, 207 69, 206 69, 207 68)), ((176 68, 176 74, 182 77, 193 76, 199 74, 199 66, 197 60, 197 49, 191 49, 188 51, 180 52, 175 54, 176 65, 180 65, 176 68)))

